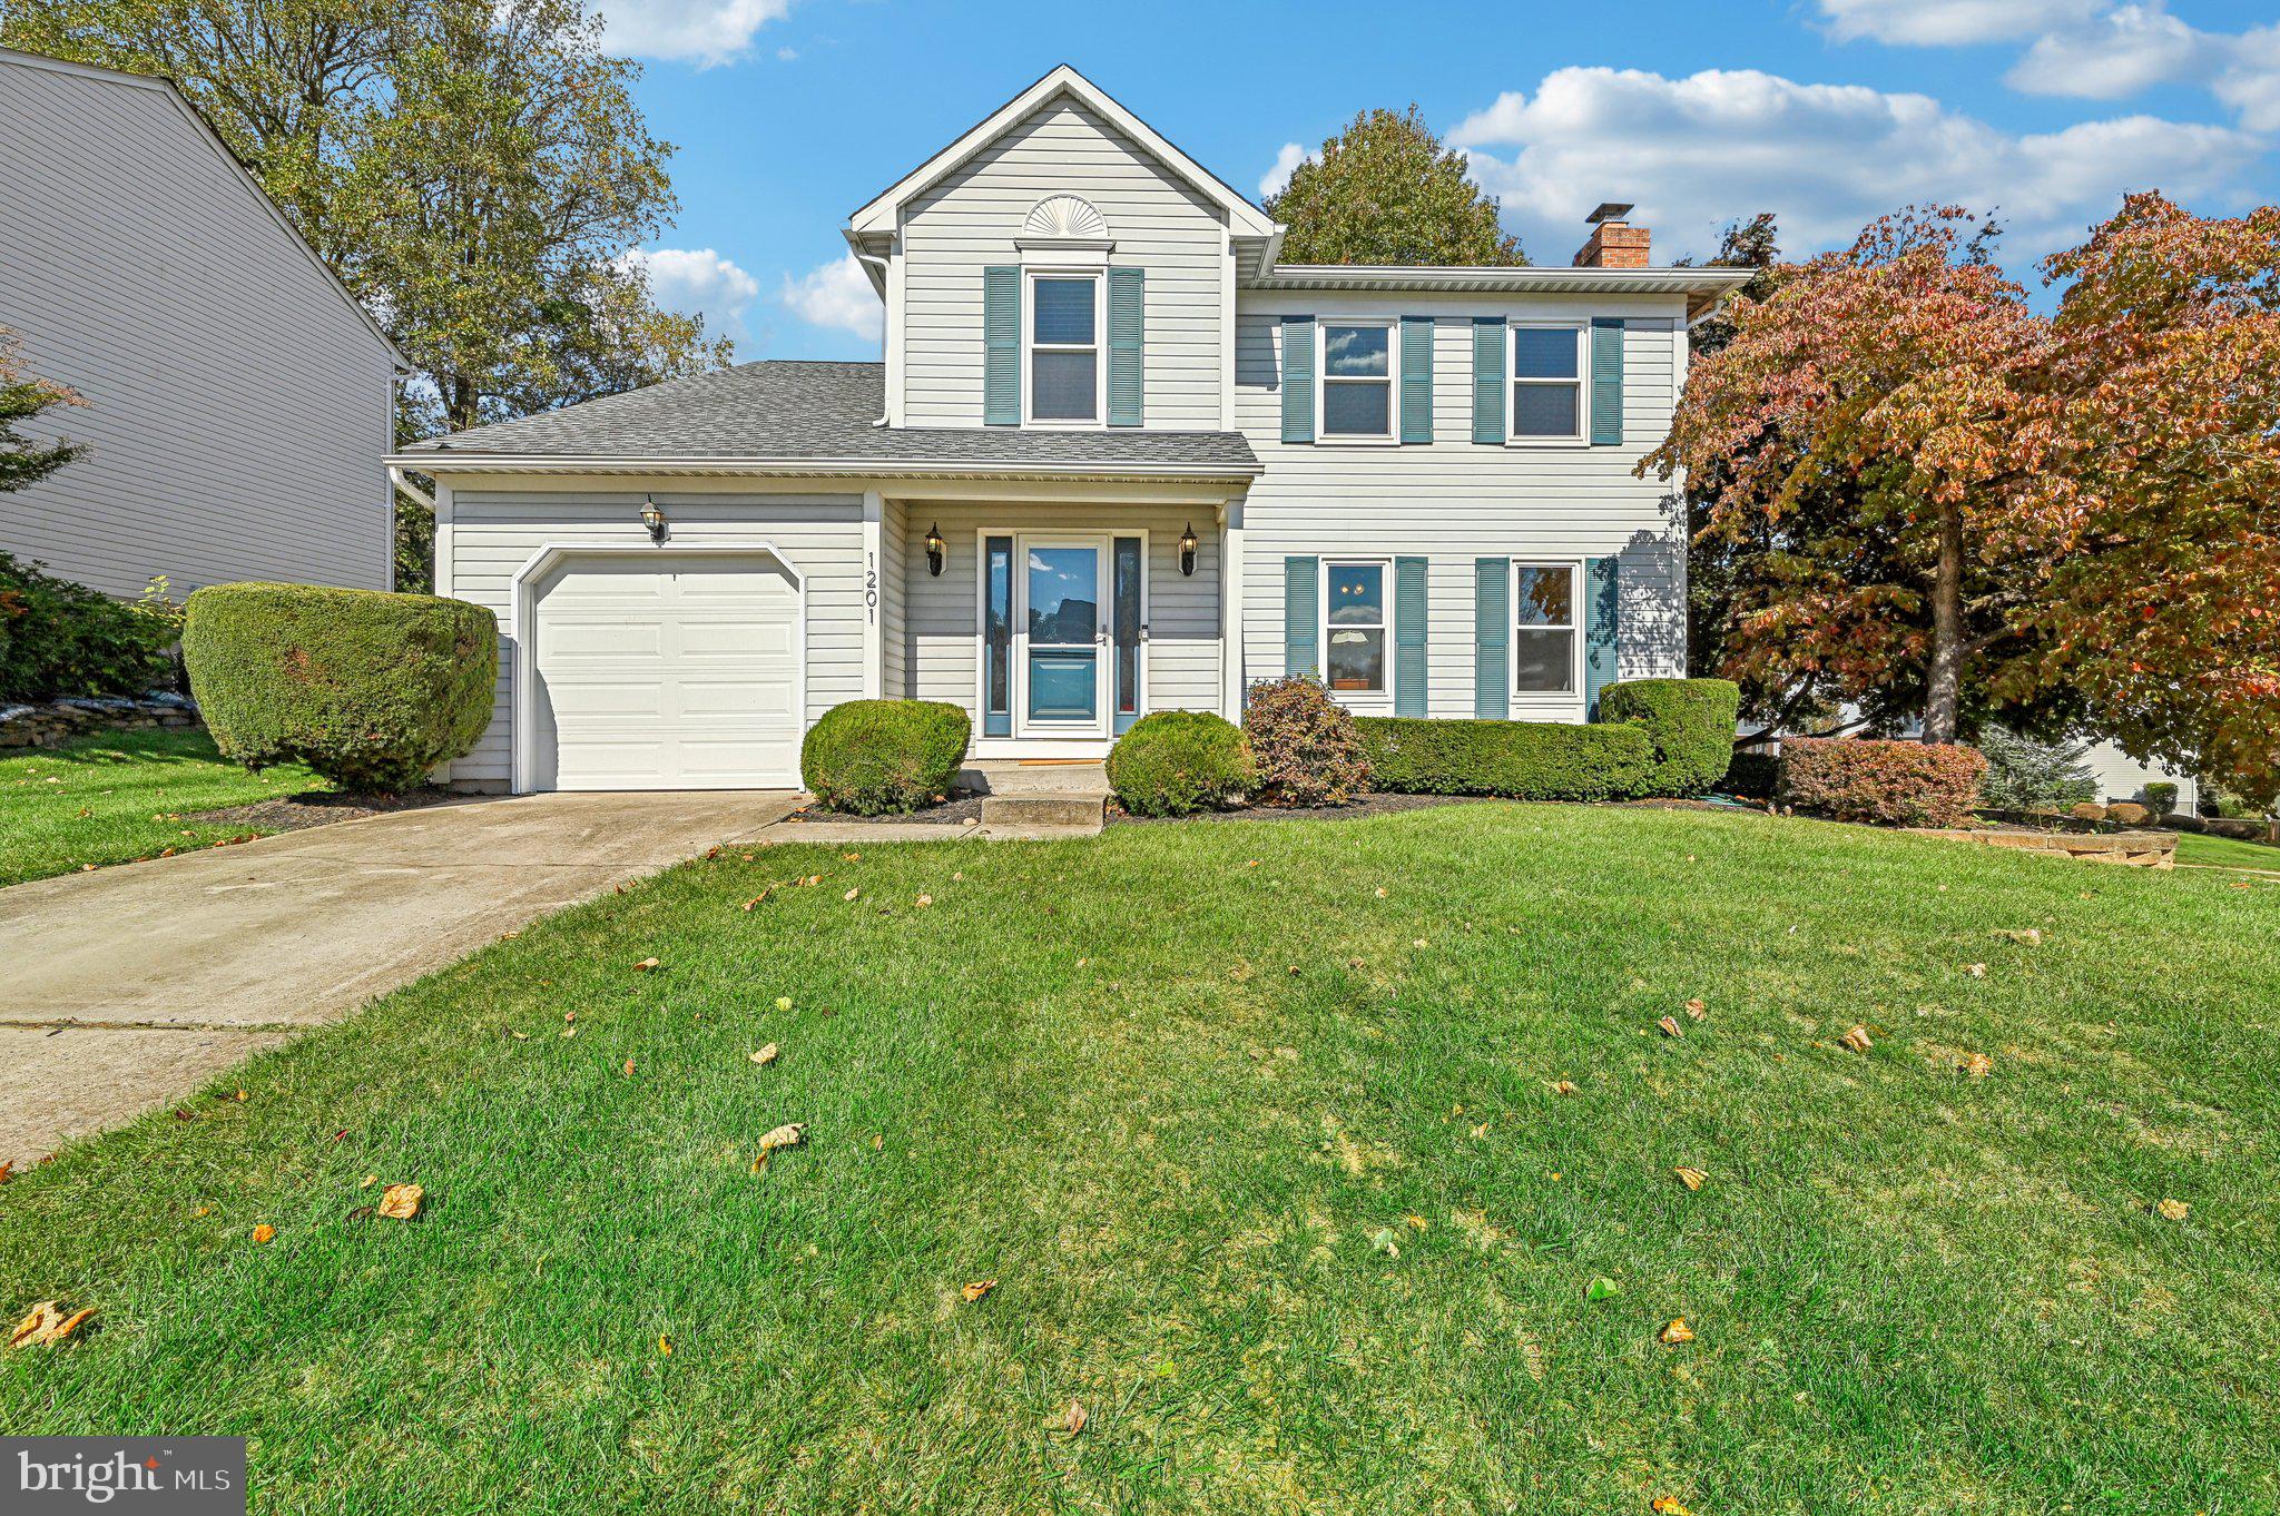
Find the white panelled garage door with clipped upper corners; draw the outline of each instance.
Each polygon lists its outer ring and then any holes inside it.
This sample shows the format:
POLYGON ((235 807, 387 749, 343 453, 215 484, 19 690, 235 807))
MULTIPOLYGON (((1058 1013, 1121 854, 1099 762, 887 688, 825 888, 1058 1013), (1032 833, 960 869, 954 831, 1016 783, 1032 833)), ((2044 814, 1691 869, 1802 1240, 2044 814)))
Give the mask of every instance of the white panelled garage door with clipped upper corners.
POLYGON ((768 554, 572 556, 536 586, 534 789, 796 789, 800 593, 768 554))

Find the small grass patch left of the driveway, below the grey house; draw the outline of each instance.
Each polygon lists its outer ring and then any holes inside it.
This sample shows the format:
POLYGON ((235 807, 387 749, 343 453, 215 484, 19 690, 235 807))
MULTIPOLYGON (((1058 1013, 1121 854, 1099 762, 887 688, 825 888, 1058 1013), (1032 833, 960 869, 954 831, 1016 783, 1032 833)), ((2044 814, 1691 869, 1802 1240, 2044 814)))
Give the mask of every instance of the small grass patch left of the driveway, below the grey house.
POLYGON ((328 784, 306 768, 246 773, 196 730, 100 732, 0 757, 0 885, 260 834, 182 816, 308 789, 328 784))

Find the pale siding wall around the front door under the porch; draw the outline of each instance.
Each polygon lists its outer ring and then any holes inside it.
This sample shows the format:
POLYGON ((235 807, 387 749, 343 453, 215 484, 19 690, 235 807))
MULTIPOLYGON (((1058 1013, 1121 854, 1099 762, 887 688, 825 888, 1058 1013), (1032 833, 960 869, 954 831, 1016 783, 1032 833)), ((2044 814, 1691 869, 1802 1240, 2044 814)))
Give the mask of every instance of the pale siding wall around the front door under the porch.
MULTIPOLYGON (((914 502, 905 524, 910 584, 910 693, 974 711, 980 679, 976 627, 978 533, 1081 531, 1147 533, 1147 688, 1145 711, 1220 709, 1220 533, 1208 513, 1186 506, 992 506, 914 502), (942 577, 926 572, 926 529, 942 522, 948 543, 942 577), (1195 574, 1179 572, 1179 533, 1195 520, 1195 574)), ((891 657, 891 654, 889 654, 891 657)), ((980 723, 976 723, 980 730, 980 723)))

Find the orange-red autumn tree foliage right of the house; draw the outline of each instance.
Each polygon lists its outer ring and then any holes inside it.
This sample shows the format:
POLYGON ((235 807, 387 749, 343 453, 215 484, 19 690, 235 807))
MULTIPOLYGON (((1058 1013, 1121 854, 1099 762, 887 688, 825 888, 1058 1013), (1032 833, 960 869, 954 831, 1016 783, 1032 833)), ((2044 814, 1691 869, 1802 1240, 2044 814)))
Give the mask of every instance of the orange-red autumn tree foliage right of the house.
POLYGON ((2280 791, 2280 212, 2134 196, 2045 264, 2054 317, 1959 210, 1776 271, 1667 442, 1746 561, 1724 668, 1922 718, 2002 711, 2280 791))

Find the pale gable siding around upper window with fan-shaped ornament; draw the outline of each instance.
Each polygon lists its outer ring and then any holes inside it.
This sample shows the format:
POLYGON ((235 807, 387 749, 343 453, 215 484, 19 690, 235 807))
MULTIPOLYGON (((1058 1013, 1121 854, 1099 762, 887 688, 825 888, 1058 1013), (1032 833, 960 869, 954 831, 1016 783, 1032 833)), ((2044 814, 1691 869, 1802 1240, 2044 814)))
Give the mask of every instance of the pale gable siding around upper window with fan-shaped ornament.
POLYGON ((1108 219, 1110 262, 1147 271, 1147 424, 1218 431, 1224 217, 1069 96, 905 210, 903 424, 983 424, 983 269, 1021 262, 1021 221, 1051 194, 1090 201, 1108 219))

